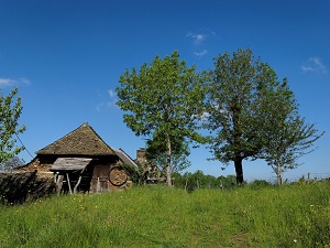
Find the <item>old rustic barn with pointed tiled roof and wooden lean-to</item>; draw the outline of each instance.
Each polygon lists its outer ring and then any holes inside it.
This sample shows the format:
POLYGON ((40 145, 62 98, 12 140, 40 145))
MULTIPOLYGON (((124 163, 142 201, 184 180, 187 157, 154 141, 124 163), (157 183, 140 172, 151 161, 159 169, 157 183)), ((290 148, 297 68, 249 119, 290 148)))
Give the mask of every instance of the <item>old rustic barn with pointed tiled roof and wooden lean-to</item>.
POLYGON ((138 171, 123 150, 111 148, 84 123, 38 150, 30 163, 16 171, 53 172, 58 193, 99 193, 130 187, 132 182, 125 166, 138 171))

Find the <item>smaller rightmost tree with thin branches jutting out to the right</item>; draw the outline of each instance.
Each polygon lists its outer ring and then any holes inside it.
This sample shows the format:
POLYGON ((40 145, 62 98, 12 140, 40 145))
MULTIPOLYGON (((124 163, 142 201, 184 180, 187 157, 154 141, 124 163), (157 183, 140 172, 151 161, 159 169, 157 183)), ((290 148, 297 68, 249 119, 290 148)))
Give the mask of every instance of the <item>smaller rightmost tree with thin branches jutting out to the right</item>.
POLYGON ((298 104, 286 80, 275 91, 267 95, 261 118, 263 148, 257 159, 264 159, 277 175, 277 184, 282 185, 282 175, 288 169, 299 165, 298 159, 309 152, 318 134, 315 125, 306 122, 298 111, 298 104), (273 114, 273 115, 270 115, 273 114))

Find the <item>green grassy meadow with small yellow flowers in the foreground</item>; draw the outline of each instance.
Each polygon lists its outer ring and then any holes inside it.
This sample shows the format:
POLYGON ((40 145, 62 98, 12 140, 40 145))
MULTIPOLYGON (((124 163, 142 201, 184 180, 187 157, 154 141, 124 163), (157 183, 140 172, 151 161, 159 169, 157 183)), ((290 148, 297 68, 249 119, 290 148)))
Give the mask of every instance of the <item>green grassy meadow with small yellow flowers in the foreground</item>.
POLYGON ((330 247, 330 184, 139 187, 0 206, 0 247, 330 247))

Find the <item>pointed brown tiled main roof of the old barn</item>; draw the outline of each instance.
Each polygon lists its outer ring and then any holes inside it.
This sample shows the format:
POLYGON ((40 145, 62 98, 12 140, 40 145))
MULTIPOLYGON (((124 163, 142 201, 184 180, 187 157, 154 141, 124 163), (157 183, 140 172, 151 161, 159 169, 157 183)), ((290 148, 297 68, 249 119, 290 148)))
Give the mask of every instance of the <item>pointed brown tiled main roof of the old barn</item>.
POLYGON ((114 155, 116 152, 88 123, 82 123, 76 130, 38 150, 36 154, 114 155))

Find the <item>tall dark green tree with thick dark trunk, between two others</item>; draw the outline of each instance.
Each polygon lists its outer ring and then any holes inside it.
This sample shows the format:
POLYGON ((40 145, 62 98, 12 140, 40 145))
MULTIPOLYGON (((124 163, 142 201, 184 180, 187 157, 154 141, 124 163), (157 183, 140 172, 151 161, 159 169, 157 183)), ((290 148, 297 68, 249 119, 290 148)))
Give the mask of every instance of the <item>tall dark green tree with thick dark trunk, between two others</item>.
POLYGON ((215 58, 205 127, 211 133, 209 148, 213 159, 226 164, 233 161, 238 184, 244 181, 242 161, 255 158, 264 145, 262 120, 276 114, 267 109, 267 99, 282 84, 250 48, 215 58))

